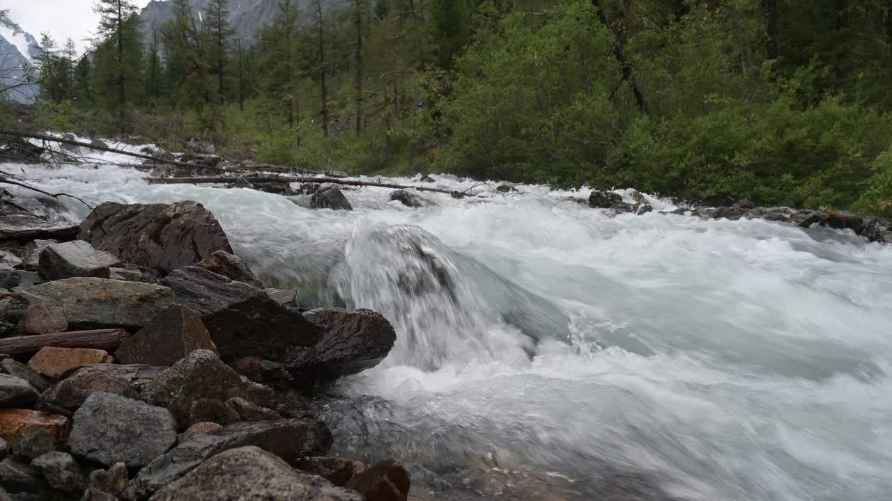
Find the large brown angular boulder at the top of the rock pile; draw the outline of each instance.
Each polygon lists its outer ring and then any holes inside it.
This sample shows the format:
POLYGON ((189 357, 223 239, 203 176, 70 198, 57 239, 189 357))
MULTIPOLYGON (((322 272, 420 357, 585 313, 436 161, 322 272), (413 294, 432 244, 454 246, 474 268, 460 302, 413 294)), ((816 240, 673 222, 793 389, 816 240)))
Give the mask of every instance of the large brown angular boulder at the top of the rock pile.
POLYGON ((122 261, 161 273, 194 265, 218 250, 232 252, 217 219, 196 201, 106 202, 81 223, 78 237, 122 261))

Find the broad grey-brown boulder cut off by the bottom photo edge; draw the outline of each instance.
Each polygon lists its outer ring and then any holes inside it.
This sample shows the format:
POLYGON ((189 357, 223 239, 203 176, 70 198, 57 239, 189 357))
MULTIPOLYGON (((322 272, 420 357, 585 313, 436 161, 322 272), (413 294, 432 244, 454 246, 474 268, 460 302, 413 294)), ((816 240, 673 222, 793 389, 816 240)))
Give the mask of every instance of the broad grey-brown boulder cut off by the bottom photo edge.
POLYGON ((233 448, 158 491, 152 501, 363 501, 321 477, 296 472, 261 448, 233 448))

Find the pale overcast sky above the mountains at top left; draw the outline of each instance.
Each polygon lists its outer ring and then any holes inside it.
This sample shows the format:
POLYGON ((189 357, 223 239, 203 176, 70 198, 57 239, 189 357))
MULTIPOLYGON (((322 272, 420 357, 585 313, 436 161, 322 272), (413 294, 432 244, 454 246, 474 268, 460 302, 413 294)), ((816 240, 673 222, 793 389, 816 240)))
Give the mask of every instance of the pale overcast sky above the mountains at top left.
MULTIPOLYGON (((140 8, 149 0, 134 0, 140 8)), ((12 21, 21 29, 40 38, 44 31, 52 35, 62 45, 71 37, 83 50, 83 41, 95 31, 99 18, 93 12, 94 0, 0 0, 0 9, 9 9, 12 21)))

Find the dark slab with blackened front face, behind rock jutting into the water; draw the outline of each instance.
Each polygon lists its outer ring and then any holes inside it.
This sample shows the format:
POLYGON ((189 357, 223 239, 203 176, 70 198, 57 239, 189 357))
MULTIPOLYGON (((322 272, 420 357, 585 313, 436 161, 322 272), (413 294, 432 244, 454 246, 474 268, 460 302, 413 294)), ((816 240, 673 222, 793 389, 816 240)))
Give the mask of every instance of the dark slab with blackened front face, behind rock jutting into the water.
POLYGON ((311 346, 322 335, 317 325, 271 300, 266 292, 200 267, 175 270, 161 281, 180 304, 202 317, 227 359, 277 360, 293 346, 311 346))

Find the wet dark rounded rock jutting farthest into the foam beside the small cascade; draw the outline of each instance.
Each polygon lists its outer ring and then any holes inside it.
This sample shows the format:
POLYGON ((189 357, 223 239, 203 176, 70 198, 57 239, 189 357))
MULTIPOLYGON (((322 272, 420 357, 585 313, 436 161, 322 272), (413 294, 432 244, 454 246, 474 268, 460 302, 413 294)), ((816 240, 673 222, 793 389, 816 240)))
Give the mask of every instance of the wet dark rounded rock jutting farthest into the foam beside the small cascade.
POLYGON ((384 360, 396 341, 390 322, 368 309, 319 308, 303 316, 326 333, 313 347, 288 350, 283 365, 295 375, 333 379, 359 373, 384 360))

